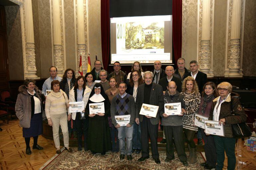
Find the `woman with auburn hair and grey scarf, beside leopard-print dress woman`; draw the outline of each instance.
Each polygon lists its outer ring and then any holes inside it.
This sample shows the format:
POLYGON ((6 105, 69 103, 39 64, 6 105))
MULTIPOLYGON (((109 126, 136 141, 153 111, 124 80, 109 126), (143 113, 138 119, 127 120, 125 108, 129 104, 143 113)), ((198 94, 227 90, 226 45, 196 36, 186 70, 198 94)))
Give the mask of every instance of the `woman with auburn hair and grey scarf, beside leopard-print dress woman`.
MULTIPOLYGON (((203 86, 201 103, 199 106, 199 115, 209 118, 212 100, 218 96, 218 90, 213 82, 207 82, 203 86)), ((204 152, 206 162, 201 163, 204 169, 212 169, 216 166, 216 150, 213 135, 206 136, 204 129, 199 128, 204 141, 204 152)))

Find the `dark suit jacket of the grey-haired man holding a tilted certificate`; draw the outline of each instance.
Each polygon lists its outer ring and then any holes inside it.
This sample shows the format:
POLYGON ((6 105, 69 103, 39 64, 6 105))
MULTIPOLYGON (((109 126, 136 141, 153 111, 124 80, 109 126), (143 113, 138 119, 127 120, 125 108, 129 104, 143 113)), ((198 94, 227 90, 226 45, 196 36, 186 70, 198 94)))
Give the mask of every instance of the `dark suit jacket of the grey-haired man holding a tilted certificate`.
MULTIPOLYGON (((135 102, 135 118, 139 118, 140 122, 142 122, 144 117, 143 115, 139 115, 141 106, 144 103, 144 87, 145 84, 138 86, 137 98, 135 102)), ((159 114, 164 107, 164 93, 161 85, 158 85, 156 83, 152 84, 149 101, 151 105, 159 106, 156 118, 150 119, 152 125, 157 125, 160 118, 159 114)))

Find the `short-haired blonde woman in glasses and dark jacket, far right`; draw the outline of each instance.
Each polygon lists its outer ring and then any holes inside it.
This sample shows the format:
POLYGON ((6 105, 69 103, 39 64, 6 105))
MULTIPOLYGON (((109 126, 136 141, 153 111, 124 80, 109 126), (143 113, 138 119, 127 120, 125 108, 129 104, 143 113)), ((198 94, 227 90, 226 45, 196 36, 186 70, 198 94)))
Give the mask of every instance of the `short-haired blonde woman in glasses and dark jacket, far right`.
POLYGON ((219 97, 213 100, 209 120, 218 121, 224 125, 224 137, 214 136, 214 143, 217 153, 216 170, 222 170, 225 154, 227 155, 227 169, 234 170, 236 166, 235 143, 233 138, 232 124, 246 122, 246 115, 239 99, 231 97, 232 85, 222 82, 217 86, 219 97), (233 116, 234 114, 235 116, 233 116))

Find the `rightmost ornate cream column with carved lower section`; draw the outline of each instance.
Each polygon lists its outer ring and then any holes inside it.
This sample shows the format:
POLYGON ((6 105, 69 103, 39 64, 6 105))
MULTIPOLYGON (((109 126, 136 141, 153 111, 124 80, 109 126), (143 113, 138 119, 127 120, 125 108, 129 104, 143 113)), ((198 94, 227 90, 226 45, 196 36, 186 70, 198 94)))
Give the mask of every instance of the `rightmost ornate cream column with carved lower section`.
POLYGON ((225 77, 243 77, 241 46, 244 3, 244 0, 228 1, 225 77))

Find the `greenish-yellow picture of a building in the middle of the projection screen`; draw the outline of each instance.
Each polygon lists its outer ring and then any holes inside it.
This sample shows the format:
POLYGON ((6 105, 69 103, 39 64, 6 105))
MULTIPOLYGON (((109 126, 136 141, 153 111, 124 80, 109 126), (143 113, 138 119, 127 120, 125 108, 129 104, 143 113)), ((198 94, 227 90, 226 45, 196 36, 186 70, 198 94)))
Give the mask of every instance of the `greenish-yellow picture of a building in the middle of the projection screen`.
POLYGON ((125 49, 163 48, 164 22, 125 24, 125 49))

